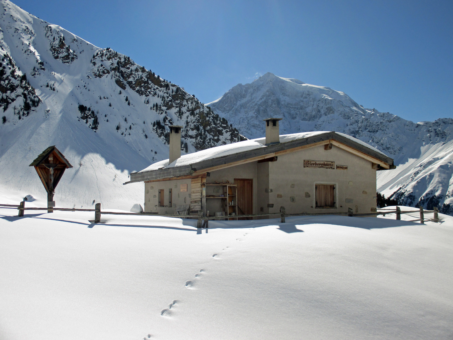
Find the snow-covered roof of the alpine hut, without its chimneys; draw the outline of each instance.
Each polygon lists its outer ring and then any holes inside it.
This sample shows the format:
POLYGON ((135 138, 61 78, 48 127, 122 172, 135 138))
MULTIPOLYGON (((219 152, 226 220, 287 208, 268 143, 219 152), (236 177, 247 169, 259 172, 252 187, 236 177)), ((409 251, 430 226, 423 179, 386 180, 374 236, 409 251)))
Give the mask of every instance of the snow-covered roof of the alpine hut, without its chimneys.
POLYGON ((216 146, 210 149, 182 155, 170 164, 168 159, 161 160, 149 165, 139 172, 130 174, 131 180, 127 183, 188 175, 190 170, 192 170, 193 173, 193 171, 196 170, 208 169, 211 166, 216 166, 217 163, 218 165, 228 164, 237 160, 252 158, 258 154, 266 155, 276 151, 292 149, 299 146, 299 144, 308 145, 329 139, 340 139, 342 143, 346 143, 355 148, 358 147, 361 149, 360 151, 369 154, 372 157, 380 159, 390 165, 393 164, 393 160, 387 155, 357 138, 334 131, 311 131, 280 135, 280 144, 271 146, 265 146, 265 138, 263 137, 216 146), (154 172, 161 172, 161 174, 153 174, 154 172))

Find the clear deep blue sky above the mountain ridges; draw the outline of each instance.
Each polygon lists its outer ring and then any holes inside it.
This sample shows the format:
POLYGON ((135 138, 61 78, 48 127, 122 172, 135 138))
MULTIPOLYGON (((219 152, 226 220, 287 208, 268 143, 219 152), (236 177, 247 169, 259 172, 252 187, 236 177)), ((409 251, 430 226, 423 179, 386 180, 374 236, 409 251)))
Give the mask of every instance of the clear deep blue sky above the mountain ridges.
POLYGON ((412 121, 453 118, 453 1, 15 0, 202 102, 266 72, 412 121))

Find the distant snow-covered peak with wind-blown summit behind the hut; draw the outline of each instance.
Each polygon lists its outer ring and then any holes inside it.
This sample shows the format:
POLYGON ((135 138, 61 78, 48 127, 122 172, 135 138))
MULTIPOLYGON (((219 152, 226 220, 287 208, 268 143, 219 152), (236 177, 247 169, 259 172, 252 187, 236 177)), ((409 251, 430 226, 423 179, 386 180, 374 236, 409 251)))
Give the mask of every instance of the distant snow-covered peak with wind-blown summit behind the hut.
POLYGON ((395 170, 378 172, 378 190, 401 204, 453 214, 453 119, 414 123, 388 112, 366 109, 328 87, 266 73, 238 84, 206 104, 241 134, 265 134, 263 119, 284 118, 280 134, 338 131, 360 139, 395 159, 395 170))

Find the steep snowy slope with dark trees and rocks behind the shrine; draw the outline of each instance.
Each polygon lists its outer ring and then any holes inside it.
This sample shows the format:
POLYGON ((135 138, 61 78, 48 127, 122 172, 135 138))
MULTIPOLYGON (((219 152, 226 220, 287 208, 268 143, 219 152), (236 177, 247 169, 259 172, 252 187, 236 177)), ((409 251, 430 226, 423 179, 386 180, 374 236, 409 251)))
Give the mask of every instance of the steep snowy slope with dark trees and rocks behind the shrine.
POLYGON ((168 158, 167 126, 184 126, 183 152, 243 139, 195 96, 128 56, 8 0, 0 5, 0 191, 45 197, 28 165, 56 145, 74 166, 56 189, 58 206, 129 209, 143 188, 122 183, 168 158))

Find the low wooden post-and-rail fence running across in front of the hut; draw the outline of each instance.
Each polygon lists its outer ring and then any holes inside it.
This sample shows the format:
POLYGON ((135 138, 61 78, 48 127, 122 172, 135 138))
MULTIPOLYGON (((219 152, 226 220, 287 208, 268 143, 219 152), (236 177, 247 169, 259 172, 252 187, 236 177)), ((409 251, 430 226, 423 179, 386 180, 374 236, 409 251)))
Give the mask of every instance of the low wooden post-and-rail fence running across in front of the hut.
MULTIPOLYGON (((174 215, 174 214, 155 214, 155 213, 118 213, 113 211, 102 211, 101 203, 96 203, 95 209, 75 209, 75 208, 26 208, 25 201, 20 202, 19 205, 14 204, 0 204, 0 208, 4 209, 18 209, 19 217, 24 216, 25 210, 48 210, 48 212, 53 212, 53 210, 60 211, 94 211, 94 219, 90 220, 92 223, 101 223, 101 215, 131 215, 131 216, 162 216, 162 217, 174 217, 174 218, 188 218, 188 219, 197 219, 197 228, 208 228, 208 222, 211 220, 225 220, 231 219, 231 216, 215 216, 215 217, 206 217, 202 215, 202 210, 199 210, 198 215, 174 215)), ((235 215, 233 218, 254 218, 254 217, 265 217, 265 216, 280 216, 280 223, 285 223, 285 217, 292 216, 320 216, 320 215, 335 215, 335 216, 355 216, 355 217, 364 217, 364 216, 377 216, 386 214, 396 214, 396 219, 400 220, 402 214, 414 214, 417 210, 411 211, 401 211, 400 207, 396 207, 395 210, 392 209, 380 209, 382 211, 376 211, 375 213, 367 214, 353 214, 351 211, 347 213, 300 213, 300 214, 286 214, 284 207, 280 207, 280 212, 278 213, 267 213, 267 214, 251 214, 251 215, 235 215)), ((418 210, 420 214, 419 219, 411 220, 410 222, 424 223, 424 221, 433 221, 439 222, 439 209, 434 207, 433 210, 423 210, 422 207, 418 210), (433 214, 433 219, 425 219, 424 214, 433 214)), ((209 212, 208 212, 209 213, 209 212)))

